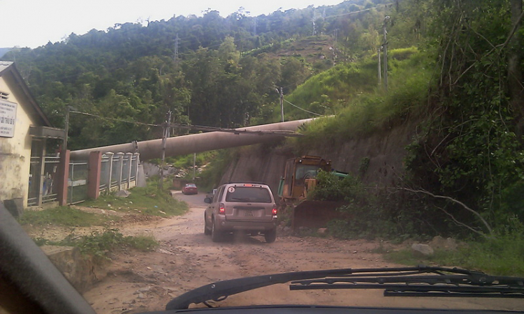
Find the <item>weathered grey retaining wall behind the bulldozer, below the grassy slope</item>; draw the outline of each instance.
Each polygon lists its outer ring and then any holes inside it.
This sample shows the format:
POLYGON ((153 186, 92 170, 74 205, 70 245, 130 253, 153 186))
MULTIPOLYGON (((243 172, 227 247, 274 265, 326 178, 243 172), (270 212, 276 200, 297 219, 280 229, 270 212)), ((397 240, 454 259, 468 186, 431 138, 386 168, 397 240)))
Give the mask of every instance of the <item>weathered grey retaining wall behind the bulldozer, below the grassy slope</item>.
MULTIPOLYGON (((300 155, 321 156, 332 161, 333 168, 362 179, 367 186, 395 186, 404 175, 405 147, 416 133, 419 121, 413 121, 366 137, 349 139, 337 146, 325 143, 300 155)), ((228 181, 260 181, 273 193, 288 158, 298 157, 285 144, 275 147, 258 144, 240 149, 238 160, 232 160, 221 184, 228 181)))

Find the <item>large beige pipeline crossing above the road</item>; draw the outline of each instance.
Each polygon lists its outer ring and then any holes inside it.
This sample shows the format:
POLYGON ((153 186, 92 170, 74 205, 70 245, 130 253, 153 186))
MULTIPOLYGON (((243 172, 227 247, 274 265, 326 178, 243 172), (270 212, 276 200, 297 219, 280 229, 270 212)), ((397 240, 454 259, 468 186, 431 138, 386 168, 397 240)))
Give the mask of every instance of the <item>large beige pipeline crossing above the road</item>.
MULTIPOLYGON (((282 131, 298 130, 300 126, 312 120, 313 119, 303 119, 235 129, 239 131, 238 133, 214 131, 209 133, 168 137, 166 140, 166 157, 273 142, 286 136, 282 131), (282 132, 282 134, 279 134, 279 131, 282 132)), ((87 158, 89 158, 89 153, 92 151, 101 151, 102 154, 108 152, 135 153, 137 152, 137 149, 138 153, 140 153, 140 160, 161 158, 163 146, 162 139, 142 141, 138 142, 138 145, 135 144, 136 143, 116 144, 71 151, 71 159, 87 160, 87 158)))

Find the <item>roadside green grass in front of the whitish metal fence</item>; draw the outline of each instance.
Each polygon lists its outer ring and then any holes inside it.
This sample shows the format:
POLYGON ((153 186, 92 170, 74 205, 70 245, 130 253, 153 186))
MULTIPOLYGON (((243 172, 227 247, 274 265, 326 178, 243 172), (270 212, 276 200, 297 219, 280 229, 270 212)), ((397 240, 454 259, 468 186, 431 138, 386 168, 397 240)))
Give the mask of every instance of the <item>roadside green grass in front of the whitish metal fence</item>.
POLYGON ((189 210, 187 203, 173 198, 168 190, 159 190, 157 185, 158 182, 152 181, 145 188, 132 188, 129 190, 131 195, 125 198, 101 195, 98 200, 89 200, 83 206, 163 217, 180 216, 189 210))

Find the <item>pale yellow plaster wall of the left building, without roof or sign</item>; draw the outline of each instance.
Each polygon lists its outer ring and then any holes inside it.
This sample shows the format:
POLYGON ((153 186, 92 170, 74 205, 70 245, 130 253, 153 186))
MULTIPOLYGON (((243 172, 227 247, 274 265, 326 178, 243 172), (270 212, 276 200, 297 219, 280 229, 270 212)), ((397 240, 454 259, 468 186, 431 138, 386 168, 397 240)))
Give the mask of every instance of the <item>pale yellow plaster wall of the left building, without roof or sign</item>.
POLYGON ((31 163, 29 126, 35 123, 27 112, 29 105, 20 103, 17 98, 22 91, 9 75, 0 76, 0 91, 9 94, 8 101, 17 103, 15 136, 0 137, 0 200, 22 197, 27 207, 31 163))

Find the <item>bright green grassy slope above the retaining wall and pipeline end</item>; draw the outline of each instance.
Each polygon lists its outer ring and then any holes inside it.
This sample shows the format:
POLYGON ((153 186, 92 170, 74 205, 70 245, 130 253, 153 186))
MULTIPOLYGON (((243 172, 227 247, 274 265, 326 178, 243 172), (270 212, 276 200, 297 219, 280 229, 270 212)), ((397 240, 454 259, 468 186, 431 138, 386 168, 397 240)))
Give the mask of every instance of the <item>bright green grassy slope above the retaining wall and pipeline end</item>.
MULTIPOLYGON (((324 145, 342 142, 388 130, 401 124, 409 116, 418 116, 428 102, 432 86, 431 54, 414 48, 399 52, 402 57, 392 59, 388 92, 377 87, 376 61, 366 59, 358 64, 339 66, 314 77, 297 88, 288 98, 291 103, 305 105, 305 109, 336 117, 317 119, 307 124, 300 140, 293 140, 298 151, 307 151, 324 145), (312 98, 310 93, 318 96, 312 98), (313 99, 307 101, 307 99, 313 99), (342 141, 342 142, 341 142, 342 141)), ((287 110, 287 117, 295 117, 296 110, 287 110)), ((300 118, 311 117, 301 113, 300 118)))

